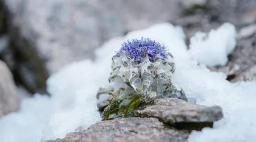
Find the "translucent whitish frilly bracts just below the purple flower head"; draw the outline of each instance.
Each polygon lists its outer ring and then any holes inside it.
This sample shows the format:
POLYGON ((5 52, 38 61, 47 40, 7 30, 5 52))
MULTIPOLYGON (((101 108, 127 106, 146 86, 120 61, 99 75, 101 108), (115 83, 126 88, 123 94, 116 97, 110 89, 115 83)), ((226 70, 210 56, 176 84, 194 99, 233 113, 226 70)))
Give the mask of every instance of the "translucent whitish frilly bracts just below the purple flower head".
POLYGON ((155 57, 155 62, 145 57, 141 63, 127 57, 113 57, 112 69, 110 82, 122 85, 123 88, 133 88, 138 94, 148 98, 155 98, 165 94, 165 88, 172 84, 175 64, 171 57, 155 57))

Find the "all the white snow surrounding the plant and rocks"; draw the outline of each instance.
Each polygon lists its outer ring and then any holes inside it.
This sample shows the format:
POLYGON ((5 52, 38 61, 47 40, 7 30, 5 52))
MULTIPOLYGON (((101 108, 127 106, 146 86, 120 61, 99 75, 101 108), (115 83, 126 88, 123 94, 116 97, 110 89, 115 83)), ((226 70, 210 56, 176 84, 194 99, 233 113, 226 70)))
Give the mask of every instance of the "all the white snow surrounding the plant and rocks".
POLYGON ((95 94, 99 87, 108 85, 112 56, 123 41, 141 37, 168 46, 176 62, 174 83, 189 98, 196 98, 197 104, 220 105, 223 109, 224 118, 215 122, 213 129, 194 131, 189 141, 256 140, 256 82, 230 83, 225 74, 205 67, 227 63, 227 54, 235 47, 235 27, 225 23, 207 37, 197 33, 191 38, 188 51, 182 27, 163 23, 113 38, 96 51, 96 62, 72 63, 53 74, 47 82, 51 98, 40 95, 26 98, 20 112, 0 119, 0 141, 63 138, 77 127, 85 128, 100 121, 95 94))

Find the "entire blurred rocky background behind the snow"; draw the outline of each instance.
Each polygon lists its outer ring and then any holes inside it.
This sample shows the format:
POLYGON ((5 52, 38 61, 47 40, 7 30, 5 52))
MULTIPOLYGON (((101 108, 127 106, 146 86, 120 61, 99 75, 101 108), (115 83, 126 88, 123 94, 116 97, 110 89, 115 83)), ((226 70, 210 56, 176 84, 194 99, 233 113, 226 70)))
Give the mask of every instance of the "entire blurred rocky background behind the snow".
POLYGON ((110 38, 166 22, 183 27, 187 44, 198 30, 232 23, 236 49, 227 66, 211 69, 232 81, 255 65, 255 0, 0 0, 0 116, 16 111, 21 96, 47 94, 52 73, 94 60, 110 38))

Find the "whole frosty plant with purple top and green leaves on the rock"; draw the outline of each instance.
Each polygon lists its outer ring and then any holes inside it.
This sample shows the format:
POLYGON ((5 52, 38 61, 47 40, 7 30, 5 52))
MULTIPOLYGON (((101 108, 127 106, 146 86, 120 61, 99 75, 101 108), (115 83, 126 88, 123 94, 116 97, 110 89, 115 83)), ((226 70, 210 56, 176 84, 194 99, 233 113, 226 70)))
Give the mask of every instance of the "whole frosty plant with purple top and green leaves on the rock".
POLYGON ((112 96, 102 119, 126 117, 141 102, 155 98, 180 98, 187 101, 182 90, 172 84, 175 64, 164 44, 149 38, 124 42, 112 58, 112 73, 108 78, 112 96))

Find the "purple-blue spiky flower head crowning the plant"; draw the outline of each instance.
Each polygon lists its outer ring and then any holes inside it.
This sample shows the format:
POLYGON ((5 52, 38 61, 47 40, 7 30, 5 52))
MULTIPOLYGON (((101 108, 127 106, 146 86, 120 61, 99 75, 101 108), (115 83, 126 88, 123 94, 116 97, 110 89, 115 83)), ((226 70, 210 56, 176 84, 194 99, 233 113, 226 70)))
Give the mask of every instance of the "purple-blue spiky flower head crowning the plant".
POLYGON ((127 40, 124 42, 116 55, 126 55, 137 62, 141 62, 147 56, 149 60, 155 61, 157 55, 167 59, 168 55, 171 54, 166 51, 165 45, 142 37, 141 40, 133 39, 132 41, 127 40))

